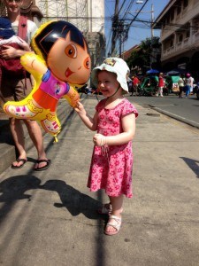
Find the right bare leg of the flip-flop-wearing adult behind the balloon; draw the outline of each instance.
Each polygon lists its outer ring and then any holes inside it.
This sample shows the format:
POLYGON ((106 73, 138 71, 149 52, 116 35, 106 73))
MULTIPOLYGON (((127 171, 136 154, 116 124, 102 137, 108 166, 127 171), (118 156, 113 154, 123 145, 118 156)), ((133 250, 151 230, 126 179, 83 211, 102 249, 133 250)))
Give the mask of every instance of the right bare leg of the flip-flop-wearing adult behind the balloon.
MULTIPOLYGON (((42 139, 42 130, 38 125, 37 121, 24 120, 29 136, 31 137, 34 146, 37 150, 38 160, 48 160, 46 153, 44 151, 43 139, 42 139)), ((46 161, 37 162, 34 168, 45 167, 48 163, 46 161)))

